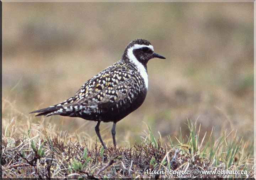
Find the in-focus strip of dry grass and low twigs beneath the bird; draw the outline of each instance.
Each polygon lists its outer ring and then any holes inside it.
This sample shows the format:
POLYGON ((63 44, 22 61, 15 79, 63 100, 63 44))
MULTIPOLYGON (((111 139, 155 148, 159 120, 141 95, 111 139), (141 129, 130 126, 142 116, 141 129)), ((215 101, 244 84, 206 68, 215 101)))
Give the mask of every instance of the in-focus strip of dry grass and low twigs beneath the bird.
MULTIPOLYGON (((232 133, 215 140, 199 138, 200 127, 188 123, 190 136, 174 145, 162 144, 151 129, 139 144, 127 148, 72 142, 56 135, 56 126, 44 128, 25 115, 3 119, 2 178, 252 178, 253 147, 232 133), (16 126, 17 118, 26 122, 16 126), (204 145, 203 145, 204 144, 204 145), (186 171, 189 174, 147 174, 186 171), (194 170, 247 171, 247 175, 193 174, 194 170)), ((248 143, 248 142, 247 142, 248 143)))

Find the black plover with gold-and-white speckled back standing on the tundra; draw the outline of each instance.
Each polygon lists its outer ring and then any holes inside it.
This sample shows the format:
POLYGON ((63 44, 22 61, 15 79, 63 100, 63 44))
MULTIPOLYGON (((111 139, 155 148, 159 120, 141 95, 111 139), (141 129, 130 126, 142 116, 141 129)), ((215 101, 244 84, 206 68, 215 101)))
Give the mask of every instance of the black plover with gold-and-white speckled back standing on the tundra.
POLYGON ((116 123, 140 107, 148 91, 147 63, 152 58, 166 59, 154 52, 148 40, 134 39, 124 50, 121 60, 86 81, 75 95, 62 103, 30 113, 36 116, 70 116, 96 121, 100 135, 101 122, 113 122, 111 129, 116 148, 116 123))

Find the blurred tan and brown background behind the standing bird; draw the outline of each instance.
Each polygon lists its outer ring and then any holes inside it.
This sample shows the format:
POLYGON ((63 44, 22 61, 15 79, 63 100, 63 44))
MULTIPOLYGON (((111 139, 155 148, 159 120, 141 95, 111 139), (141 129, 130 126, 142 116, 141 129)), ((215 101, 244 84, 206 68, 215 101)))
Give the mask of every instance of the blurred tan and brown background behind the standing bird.
MULTIPOLYGON (((26 121, 53 135, 96 141, 96 122, 34 117, 60 103, 96 73, 121 59, 136 38, 166 59, 148 63, 144 104, 119 121, 118 146, 131 147, 150 126, 164 142, 188 134, 187 120, 253 142, 254 8, 246 3, 3 3, 2 120, 26 121)), ((199 126, 199 125, 198 125, 199 126)), ((112 123, 101 135, 112 144, 112 123)), ((18 135, 17 135, 18 136, 18 135)), ((97 142, 99 142, 97 140, 97 142)))

